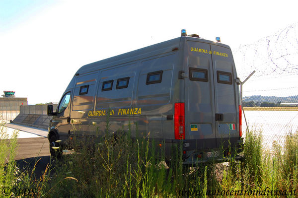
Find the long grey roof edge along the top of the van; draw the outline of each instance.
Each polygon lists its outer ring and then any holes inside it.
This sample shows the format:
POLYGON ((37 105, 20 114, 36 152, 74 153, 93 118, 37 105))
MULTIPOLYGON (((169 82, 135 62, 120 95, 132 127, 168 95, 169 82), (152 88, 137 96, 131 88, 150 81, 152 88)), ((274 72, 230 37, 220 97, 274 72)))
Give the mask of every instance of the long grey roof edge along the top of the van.
POLYGON ((164 41, 161 43, 157 43, 154 45, 150 45, 148 47, 144 47, 138 50, 134 50, 131 52, 127 52, 115 57, 111 57, 108 59, 104 59, 101 61, 97 61, 94 63, 90 63, 84 66, 81 66, 77 71, 76 71, 76 75, 78 74, 82 74, 82 73, 87 73, 87 72, 91 72, 91 71, 95 71, 95 70, 99 70, 102 68, 106 68, 109 66, 115 66, 115 65, 120 65, 120 64, 126 64, 126 63, 130 63, 133 61, 137 61, 140 59, 144 59, 144 58, 148 58, 157 54, 163 54, 163 53, 168 53, 171 52, 174 48, 179 48, 179 44, 181 43, 180 41, 183 40, 193 40, 193 41, 200 41, 203 43, 209 43, 209 44, 214 44, 214 45, 219 45, 225 48, 230 49, 229 46, 222 44, 222 43, 218 43, 218 42, 214 42, 214 41, 210 41, 210 40, 205 40, 202 38, 197 38, 197 37, 189 37, 189 36, 183 36, 183 37, 178 37, 178 38, 174 38, 168 41, 164 41))

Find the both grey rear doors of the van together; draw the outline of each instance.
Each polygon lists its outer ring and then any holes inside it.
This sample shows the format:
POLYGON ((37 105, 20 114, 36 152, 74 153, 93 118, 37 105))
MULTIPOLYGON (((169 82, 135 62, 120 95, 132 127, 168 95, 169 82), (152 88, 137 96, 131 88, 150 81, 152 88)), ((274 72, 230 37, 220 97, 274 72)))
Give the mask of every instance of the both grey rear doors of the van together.
POLYGON ((236 71, 230 49, 187 41, 185 65, 185 139, 197 149, 227 145, 238 137, 236 71))

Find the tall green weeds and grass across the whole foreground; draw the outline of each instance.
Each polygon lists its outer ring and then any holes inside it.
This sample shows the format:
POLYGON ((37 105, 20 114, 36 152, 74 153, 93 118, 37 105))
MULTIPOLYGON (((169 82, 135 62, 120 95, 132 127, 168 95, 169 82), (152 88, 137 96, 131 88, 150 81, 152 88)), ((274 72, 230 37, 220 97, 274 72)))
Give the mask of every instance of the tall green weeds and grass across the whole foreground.
MULTIPOLYGON (((278 198, 298 188, 297 132, 289 133, 284 145, 274 142, 273 151, 262 146, 262 132, 246 132, 243 161, 230 155, 226 163, 210 161, 191 168, 182 166, 182 146, 178 144, 171 149, 169 168, 164 163, 163 147, 152 147, 154 143, 139 135, 130 138, 130 123, 126 132, 111 132, 108 121, 106 126, 106 135, 99 141, 88 136, 74 138, 75 152, 62 155, 55 167, 49 165, 37 180, 33 179, 34 170, 18 171, 13 158, 16 138, 1 140, 1 187, 34 188, 35 197, 53 198, 235 197, 218 194, 219 190, 233 190, 238 197, 244 196, 240 196, 241 191, 255 194, 244 197, 264 197, 264 190, 272 190, 273 194, 265 197, 278 198)), ((138 126, 134 128, 138 134, 138 126)))

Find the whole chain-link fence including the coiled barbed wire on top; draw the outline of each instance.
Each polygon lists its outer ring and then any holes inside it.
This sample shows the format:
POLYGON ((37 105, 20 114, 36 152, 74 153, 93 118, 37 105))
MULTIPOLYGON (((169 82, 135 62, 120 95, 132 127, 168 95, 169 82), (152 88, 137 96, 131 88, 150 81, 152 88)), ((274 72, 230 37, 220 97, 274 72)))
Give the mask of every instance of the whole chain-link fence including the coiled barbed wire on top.
POLYGON ((233 52, 241 80, 256 71, 243 84, 242 106, 249 130, 262 132, 266 148, 274 141, 283 145, 287 134, 298 131, 297 32, 292 24, 233 52))

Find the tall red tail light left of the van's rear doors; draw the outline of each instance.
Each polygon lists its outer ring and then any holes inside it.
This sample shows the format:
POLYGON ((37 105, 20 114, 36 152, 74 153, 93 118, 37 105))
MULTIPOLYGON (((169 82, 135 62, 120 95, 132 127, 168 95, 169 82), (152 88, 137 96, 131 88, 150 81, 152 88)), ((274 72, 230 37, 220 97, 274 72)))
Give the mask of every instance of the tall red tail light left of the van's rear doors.
POLYGON ((175 103, 174 129, 175 139, 185 139, 184 103, 175 103))

